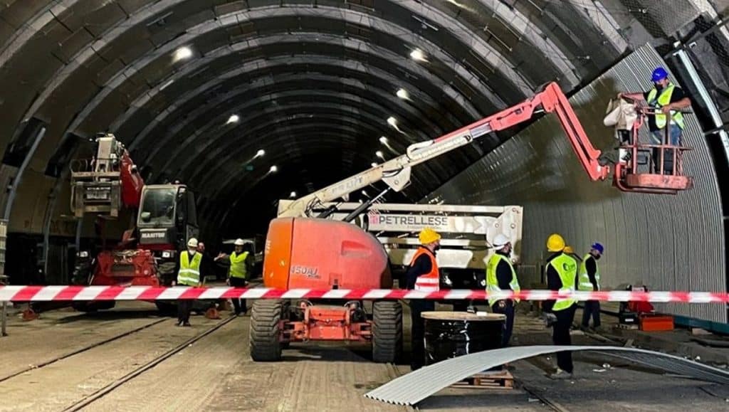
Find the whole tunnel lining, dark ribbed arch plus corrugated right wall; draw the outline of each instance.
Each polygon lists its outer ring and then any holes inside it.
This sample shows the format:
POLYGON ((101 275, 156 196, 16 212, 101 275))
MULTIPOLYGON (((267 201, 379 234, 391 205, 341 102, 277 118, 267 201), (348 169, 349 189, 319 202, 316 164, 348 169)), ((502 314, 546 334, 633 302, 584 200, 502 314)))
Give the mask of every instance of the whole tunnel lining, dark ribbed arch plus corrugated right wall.
MULTIPOLYGON (((720 0, 0 1, 0 182, 16 240, 6 272, 18 284, 67 279, 48 267, 71 265, 69 239, 93 238, 93 222, 79 229, 70 216, 69 166, 93 155, 96 133, 114 133, 147 184, 187 184, 200 237, 215 244, 265 233, 279 199, 548 82, 609 151, 607 101, 646 90, 665 65, 695 110, 690 193, 590 183, 564 136, 535 118, 418 166, 385 201, 525 205, 523 265, 534 276, 544 239, 561 232, 582 248, 611 245, 611 286, 725 290, 727 12, 720 0)), ((698 307, 671 310, 726 322, 724 309, 698 307)))

